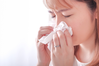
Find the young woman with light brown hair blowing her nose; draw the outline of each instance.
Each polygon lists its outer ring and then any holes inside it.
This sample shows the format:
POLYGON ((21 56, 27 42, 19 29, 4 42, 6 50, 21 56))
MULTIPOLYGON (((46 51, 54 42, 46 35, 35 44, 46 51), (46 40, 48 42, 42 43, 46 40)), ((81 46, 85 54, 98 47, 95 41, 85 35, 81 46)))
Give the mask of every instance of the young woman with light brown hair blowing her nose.
POLYGON ((57 31, 53 35, 51 51, 38 40, 53 31, 42 26, 37 37, 37 66, 99 66, 99 0, 44 0, 57 26, 66 22, 73 30, 57 31))

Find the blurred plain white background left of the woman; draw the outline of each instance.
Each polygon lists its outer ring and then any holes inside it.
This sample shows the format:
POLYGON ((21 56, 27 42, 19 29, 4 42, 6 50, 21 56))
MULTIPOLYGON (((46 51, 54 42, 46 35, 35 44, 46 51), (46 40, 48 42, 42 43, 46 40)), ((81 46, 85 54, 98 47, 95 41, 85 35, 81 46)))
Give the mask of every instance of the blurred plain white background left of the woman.
POLYGON ((43 0, 0 0, 0 66, 36 66, 35 38, 47 22, 43 0))

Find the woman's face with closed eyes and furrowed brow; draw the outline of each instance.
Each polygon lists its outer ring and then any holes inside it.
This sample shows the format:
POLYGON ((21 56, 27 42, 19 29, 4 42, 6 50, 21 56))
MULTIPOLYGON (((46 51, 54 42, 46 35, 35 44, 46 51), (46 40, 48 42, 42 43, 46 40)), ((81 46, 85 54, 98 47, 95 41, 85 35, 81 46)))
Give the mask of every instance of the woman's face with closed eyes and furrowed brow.
POLYGON ((86 42, 92 34, 95 33, 95 13, 92 14, 91 10, 86 3, 71 0, 72 8, 58 8, 54 5, 55 10, 49 11, 52 19, 57 26, 61 21, 67 23, 73 30, 73 44, 78 45, 86 42), (92 17, 93 15, 93 17, 92 17))

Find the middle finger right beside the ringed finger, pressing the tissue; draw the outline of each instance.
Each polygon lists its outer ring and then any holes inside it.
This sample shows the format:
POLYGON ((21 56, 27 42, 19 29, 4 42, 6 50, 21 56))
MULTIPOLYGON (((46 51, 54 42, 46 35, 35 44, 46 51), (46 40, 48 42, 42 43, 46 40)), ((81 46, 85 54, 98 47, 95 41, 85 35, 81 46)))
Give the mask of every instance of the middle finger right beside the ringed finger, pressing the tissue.
POLYGON ((65 39, 64 33, 62 31, 57 31, 57 34, 58 34, 58 37, 59 37, 61 48, 62 49, 67 48, 66 39, 65 39))

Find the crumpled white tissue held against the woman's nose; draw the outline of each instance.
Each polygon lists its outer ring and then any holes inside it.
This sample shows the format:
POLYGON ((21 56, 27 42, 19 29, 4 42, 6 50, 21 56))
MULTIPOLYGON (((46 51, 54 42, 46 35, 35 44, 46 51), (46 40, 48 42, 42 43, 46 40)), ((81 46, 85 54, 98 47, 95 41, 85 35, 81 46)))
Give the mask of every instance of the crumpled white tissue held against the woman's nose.
POLYGON ((41 37, 41 39, 39 40, 39 42, 41 42, 43 44, 47 44, 47 43, 49 43, 53 39, 53 34, 57 30, 61 30, 62 32, 64 32, 66 29, 69 31, 70 35, 72 36, 73 35, 72 28, 71 27, 68 27, 68 25, 64 21, 61 21, 60 24, 56 28, 54 28, 54 31, 52 31, 47 36, 41 37))

